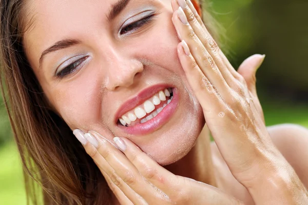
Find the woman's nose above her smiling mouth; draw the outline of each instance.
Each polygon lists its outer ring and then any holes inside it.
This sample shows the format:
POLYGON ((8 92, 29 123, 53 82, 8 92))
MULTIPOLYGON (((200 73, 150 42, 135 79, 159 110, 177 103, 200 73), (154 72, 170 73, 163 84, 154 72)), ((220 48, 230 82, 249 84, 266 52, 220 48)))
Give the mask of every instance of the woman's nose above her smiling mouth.
POLYGON ((110 91, 131 86, 136 80, 136 75, 143 71, 143 64, 136 58, 113 54, 108 61, 105 86, 110 91))

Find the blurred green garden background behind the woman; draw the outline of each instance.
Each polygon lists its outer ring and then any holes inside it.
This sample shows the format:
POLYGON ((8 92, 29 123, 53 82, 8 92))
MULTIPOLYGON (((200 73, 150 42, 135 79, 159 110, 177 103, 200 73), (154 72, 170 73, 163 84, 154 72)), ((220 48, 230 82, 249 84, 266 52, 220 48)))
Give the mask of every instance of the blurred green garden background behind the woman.
MULTIPOLYGON (((209 5, 225 37, 221 45, 238 67, 266 54, 257 73, 268 126, 308 127, 308 1, 216 0, 209 5)), ((0 97, 0 204, 26 204, 20 158, 0 97)))

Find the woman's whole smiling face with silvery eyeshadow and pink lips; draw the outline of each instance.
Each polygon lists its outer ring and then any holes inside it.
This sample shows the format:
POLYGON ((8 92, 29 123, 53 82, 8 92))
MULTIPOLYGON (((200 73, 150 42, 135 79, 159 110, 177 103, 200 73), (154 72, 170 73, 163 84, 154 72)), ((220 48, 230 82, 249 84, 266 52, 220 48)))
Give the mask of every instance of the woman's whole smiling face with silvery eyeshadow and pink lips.
POLYGON ((27 11, 28 60, 72 130, 127 137, 161 165, 194 146, 204 118, 177 55, 170 0, 29 0, 27 11))

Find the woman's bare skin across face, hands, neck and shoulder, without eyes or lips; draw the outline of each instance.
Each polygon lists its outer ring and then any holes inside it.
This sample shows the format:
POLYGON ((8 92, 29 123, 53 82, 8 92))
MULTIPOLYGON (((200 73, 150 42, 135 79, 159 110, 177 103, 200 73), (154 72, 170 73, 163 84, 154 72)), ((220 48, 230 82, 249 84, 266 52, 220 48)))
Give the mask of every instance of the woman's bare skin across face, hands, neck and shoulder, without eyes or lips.
MULTIPOLYGON (((187 26, 180 22, 176 1, 172 1, 171 7, 170 1, 134 0, 123 14, 108 23, 105 13, 107 5, 113 2, 105 1, 101 5, 84 1, 74 1, 74 4, 72 1, 32 1, 29 12, 34 23, 25 35, 25 48, 56 112, 72 130, 100 133, 90 132, 93 139, 98 140, 98 146, 87 143, 85 149, 101 169, 117 200, 122 204, 306 202, 304 185, 307 181, 303 173, 307 166, 296 162, 298 156, 291 155, 283 145, 288 134, 303 136, 307 131, 286 126, 266 130, 254 81, 254 72, 264 57, 257 55, 247 59, 239 69, 240 75, 209 37, 200 17, 192 15, 192 8, 184 9, 187 26), (129 11, 144 5, 155 7, 160 14, 136 32, 126 37, 117 36, 119 22, 131 15, 129 11), (63 19, 60 22, 59 16, 63 19), (166 32, 158 35, 158 30, 166 32), (195 38, 191 38, 191 33, 196 33, 195 38), (48 54, 39 68, 42 51, 64 37, 78 38, 82 43, 48 54), (183 39, 189 48, 197 49, 183 50, 180 43, 183 39), (85 66, 67 78, 55 79, 55 65, 76 53, 89 55, 85 66), (206 55, 211 58, 202 61, 206 55), (158 83, 171 84, 180 91, 180 103, 174 116, 159 130, 142 137, 121 133, 112 122, 117 108, 140 89, 158 83), (209 86, 212 84, 217 90, 209 86), (235 104, 235 99, 241 104, 235 104), (106 107, 108 109, 104 109, 106 107), (233 118, 233 113, 237 118, 233 118), (200 134, 204 117, 216 144, 210 145, 207 127, 200 134), (185 120, 179 122, 178 119, 185 120), (283 129, 287 132, 280 131, 283 129), (125 155, 108 142, 114 136, 123 137, 125 155), (293 167, 285 159, 294 161, 293 167), (177 162, 164 169, 156 161, 161 165, 177 162)), ((306 155, 304 146, 298 146, 303 142, 308 144, 306 138, 298 138, 294 146, 306 155)))

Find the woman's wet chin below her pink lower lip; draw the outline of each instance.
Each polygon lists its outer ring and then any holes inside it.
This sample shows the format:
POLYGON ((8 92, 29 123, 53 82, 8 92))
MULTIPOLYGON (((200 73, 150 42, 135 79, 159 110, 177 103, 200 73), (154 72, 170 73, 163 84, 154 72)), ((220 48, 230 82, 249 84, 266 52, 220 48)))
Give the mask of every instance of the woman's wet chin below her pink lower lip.
POLYGON ((196 145, 205 125, 203 111, 199 103, 195 109, 186 112, 186 117, 170 120, 158 135, 152 136, 148 144, 140 145, 143 152, 156 160, 161 166, 170 165, 185 157, 196 145))

